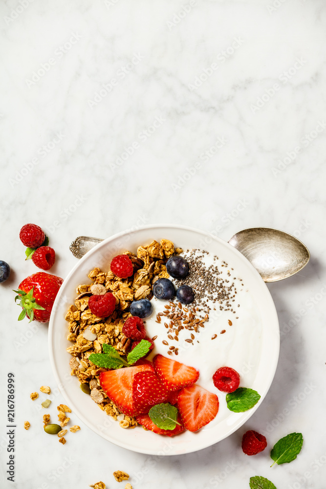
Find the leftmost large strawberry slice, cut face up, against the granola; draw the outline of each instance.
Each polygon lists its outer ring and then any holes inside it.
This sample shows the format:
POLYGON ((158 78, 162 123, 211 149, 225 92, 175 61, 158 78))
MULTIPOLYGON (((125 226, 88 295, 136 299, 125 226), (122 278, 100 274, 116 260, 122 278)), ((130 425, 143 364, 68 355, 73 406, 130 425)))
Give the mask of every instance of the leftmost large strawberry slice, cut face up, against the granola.
POLYGON ((102 389, 107 393, 123 414, 134 416, 132 403, 132 385, 134 376, 138 372, 152 371, 152 365, 137 365, 136 367, 125 367, 116 370, 101 372, 100 384, 102 389))

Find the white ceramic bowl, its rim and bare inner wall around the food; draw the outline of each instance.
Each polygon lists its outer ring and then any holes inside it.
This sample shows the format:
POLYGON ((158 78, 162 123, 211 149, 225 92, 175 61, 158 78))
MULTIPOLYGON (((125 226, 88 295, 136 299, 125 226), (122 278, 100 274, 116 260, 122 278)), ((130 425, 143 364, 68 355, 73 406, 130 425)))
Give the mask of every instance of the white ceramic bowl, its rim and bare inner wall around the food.
MULTIPOLYGON (((157 225, 145 226, 132 232, 116 234, 90 250, 66 277, 56 297, 49 324, 49 351, 54 375, 67 405, 89 428, 106 440, 116 445, 140 453, 153 455, 176 455, 194 452, 213 445, 236 431, 261 404, 274 378, 280 350, 278 317, 269 291, 257 270, 249 261, 230 244, 211 235, 185 226, 157 225), (135 429, 122 429, 118 422, 112 420, 95 404, 90 396, 84 394, 76 377, 70 375, 69 360, 71 356, 66 348, 71 343, 66 339, 67 324, 65 313, 74 303, 76 287, 89 283, 90 270, 100 267, 109 269, 113 256, 123 251, 135 252, 140 244, 149 244, 152 240, 169 239, 183 249, 203 248, 227 263, 232 263, 238 276, 241 276, 256 299, 262 322, 261 356, 259 368, 254 378, 253 389, 260 395, 260 401, 252 409, 243 413, 229 414, 210 429, 202 428, 196 433, 186 431, 175 437, 165 437, 145 431, 141 426, 135 429)), ((200 382, 198 381, 200 384, 200 382)), ((218 392, 217 392, 218 394, 218 392)), ((218 415, 217 415, 218 416, 218 415)))

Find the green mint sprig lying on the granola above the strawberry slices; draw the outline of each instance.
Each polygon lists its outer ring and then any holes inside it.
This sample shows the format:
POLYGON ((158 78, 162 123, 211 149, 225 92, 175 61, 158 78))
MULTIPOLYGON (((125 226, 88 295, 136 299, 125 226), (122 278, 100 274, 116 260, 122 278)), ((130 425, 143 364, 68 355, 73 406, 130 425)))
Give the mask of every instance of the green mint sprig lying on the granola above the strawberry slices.
POLYGON ((137 360, 146 355, 151 347, 151 342, 142 339, 140 343, 127 356, 127 361, 116 351, 113 346, 104 343, 102 345, 103 353, 92 353, 89 360, 100 368, 117 369, 121 367, 130 367, 137 360))

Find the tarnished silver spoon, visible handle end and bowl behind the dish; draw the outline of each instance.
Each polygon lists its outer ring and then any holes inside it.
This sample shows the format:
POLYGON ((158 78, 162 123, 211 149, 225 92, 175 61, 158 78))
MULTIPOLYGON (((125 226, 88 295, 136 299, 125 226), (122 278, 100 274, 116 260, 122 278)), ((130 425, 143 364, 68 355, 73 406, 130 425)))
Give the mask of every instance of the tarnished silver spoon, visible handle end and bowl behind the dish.
MULTIPOLYGON (((99 238, 78 236, 69 246, 76 258, 101 243, 99 238)), ((291 234, 270 227, 243 229, 232 236, 229 244, 258 270, 264 282, 277 282, 291 277, 308 263, 309 250, 291 234)))

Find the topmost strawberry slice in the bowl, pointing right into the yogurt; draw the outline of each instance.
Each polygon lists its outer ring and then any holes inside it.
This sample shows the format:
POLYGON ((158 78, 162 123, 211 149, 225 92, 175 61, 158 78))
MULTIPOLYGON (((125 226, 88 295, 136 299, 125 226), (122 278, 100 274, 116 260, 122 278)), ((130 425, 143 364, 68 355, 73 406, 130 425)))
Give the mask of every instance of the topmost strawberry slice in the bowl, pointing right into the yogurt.
POLYGON ((162 384, 169 391, 177 391, 183 387, 194 384, 199 377, 199 372, 194 367, 156 355, 153 359, 154 368, 162 384))

